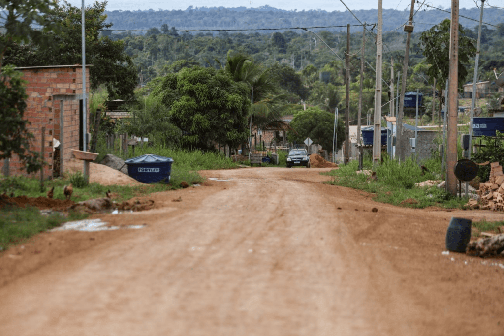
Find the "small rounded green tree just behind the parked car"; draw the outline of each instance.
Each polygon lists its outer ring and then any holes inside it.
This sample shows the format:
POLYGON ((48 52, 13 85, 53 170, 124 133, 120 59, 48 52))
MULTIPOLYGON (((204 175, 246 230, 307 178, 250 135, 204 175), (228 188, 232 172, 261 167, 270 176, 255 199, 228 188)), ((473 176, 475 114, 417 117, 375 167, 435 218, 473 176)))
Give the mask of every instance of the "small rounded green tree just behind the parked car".
MULTIPOLYGON (((290 122, 292 130, 287 133, 287 140, 291 143, 302 144, 306 138, 321 145, 325 150, 333 150, 334 113, 323 111, 318 107, 308 107, 306 110, 294 114, 290 122)), ((345 141, 345 123, 339 118, 336 132, 336 145, 341 148, 345 141)))

